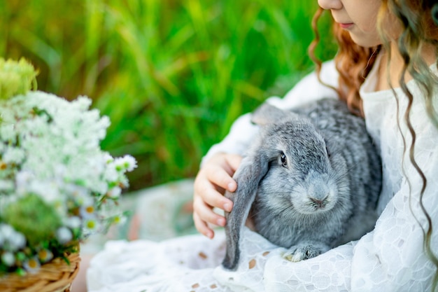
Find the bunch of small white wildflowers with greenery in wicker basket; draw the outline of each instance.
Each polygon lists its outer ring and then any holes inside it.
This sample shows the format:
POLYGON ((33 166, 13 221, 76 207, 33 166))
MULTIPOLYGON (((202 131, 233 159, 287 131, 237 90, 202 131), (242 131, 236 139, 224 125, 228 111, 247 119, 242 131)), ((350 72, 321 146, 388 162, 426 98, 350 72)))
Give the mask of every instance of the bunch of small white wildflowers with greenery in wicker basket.
POLYGON ((79 242, 123 220, 136 167, 101 151, 110 122, 90 99, 31 90, 36 74, 0 59, 0 291, 69 291, 79 242))

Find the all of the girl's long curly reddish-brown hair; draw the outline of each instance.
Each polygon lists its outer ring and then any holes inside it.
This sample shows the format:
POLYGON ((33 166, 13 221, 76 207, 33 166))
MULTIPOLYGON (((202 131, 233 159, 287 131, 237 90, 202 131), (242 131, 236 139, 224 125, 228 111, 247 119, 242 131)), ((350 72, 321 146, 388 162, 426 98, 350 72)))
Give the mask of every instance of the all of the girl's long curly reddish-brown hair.
MULTIPOLYGON (((397 47, 404 60, 402 76, 400 76, 400 86, 408 99, 408 106, 404 112, 404 122, 407 124, 409 134, 412 138, 411 143, 407 145, 406 139, 403 137, 404 153, 409 155, 411 164, 414 165, 416 172, 418 172, 423 180, 423 186, 419 194, 420 207, 423 211, 423 216, 428 222, 426 227, 421 225, 424 234, 424 250, 435 267, 437 267, 432 281, 432 291, 438 289, 438 258, 431 246, 433 231, 432 219, 423 205, 423 195, 428 180, 414 158, 416 132, 412 126, 409 115, 414 96, 407 87, 405 76, 409 74, 423 89, 423 92, 425 92, 425 104, 428 117, 430 118, 430 122, 438 129, 438 111, 434 108, 432 102, 434 90, 438 88, 438 77, 432 73, 430 67, 425 60, 423 60, 421 55, 425 45, 432 45, 432 48, 435 49, 435 56, 438 56, 438 23, 436 23, 438 21, 435 20, 436 22, 434 22, 434 18, 432 17, 432 13, 437 13, 437 11, 438 4, 436 0, 381 0, 381 7, 377 18, 377 28, 381 36, 382 44, 374 48, 358 46, 353 42, 348 32, 341 29, 336 23, 333 25, 334 38, 339 45, 337 55, 334 57, 337 71, 339 71, 339 88, 333 89, 337 91, 339 99, 346 102, 348 109, 350 109, 352 113, 363 117, 362 100, 359 95, 360 85, 362 85, 369 71, 372 69, 379 51, 384 49, 390 54, 390 42, 386 36, 383 20, 388 13, 392 13, 400 21, 402 34, 400 34, 397 41, 397 47)), ((322 62, 316 57, 315 48, 320 41, 317 23, 322 13, 323 9, 319 8, 313 17, 312 27, 315 33, 315 39, 309 46, 309 56, 316 64, 318 76, 322 62)), ((438 60, 435 62, 435 65, 438 67, 438 60)), ((386 66, 388 66, 388 64, 386 64, 386 66)), ((320 80, 320 82, 322 81, 320 80)), ((397 111, 398 110, 397 108, 397 111)), ((414 216, 416 216, 416 214, 414 214, 414 216)))

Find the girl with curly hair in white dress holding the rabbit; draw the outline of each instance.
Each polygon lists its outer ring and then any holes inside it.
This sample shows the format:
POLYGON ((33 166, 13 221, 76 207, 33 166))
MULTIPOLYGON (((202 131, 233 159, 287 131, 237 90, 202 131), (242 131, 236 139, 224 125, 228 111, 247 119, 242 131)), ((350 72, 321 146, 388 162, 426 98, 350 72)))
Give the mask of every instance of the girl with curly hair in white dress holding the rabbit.
MULTIPOLYGON (((339 52, 284 99, 291 108, 340 98, 364 116, 381 151, 381 216, 372 232, 316 258, 291 263, 255 232, 244 230, 241 265, 220 267, 225 225, 213 207, 223 197, 257 127, 242 116, 213 146, 195 179, 199 236, 111 242, 91 263, 90 291, 437 291, 438 281, 438 4, 435 0, 318 0, 330 10, 339 52), (243 263, 243 264, 242 264, 243 263)), ((313 49, 311 50, 313 55, 313 49)))

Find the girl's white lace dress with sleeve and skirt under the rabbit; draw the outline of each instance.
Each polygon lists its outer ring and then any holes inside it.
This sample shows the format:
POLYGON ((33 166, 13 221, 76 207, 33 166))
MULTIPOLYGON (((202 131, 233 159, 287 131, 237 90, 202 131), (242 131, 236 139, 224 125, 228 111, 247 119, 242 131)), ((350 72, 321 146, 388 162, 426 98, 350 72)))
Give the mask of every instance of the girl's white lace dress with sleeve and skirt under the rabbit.
MULTIPOLYGON (((438 74, 436 69, 432 71, 438 74)), ((333 62, 323 67, 323 80, 336 83, 333 62)), ((374 92, 375 82, 373 70, 361 89, 367 128, 383 160, 381 216, 372 232, 316 258, 291 263, 281 256, 285 249, 245 229, 236 272, 220 266, 225 253, 223 232, 216 232, 212 240, 192 235, 160 243, 108 242, 90 263, 89 291, 430 291, 435 266, 423 251, 420 224, 425 227, 427 221, 418 204, 421 177, 403 155, 403 137, 409 145, 411 135, 402 119, 402 134, 398 130, 393 92, 374 92)), ((414 81, 408 86, 416 99, 411 110, 417 134, 415 158, 428 179, 423 204, 435 228, 432 249, 438 253, 438 131, 428 120, 421 90, 414 81)), ((407 103, 401 90, 395 93, 401 116, 407 103)), ((273 98, 271 102, 287 108, 327 96, 334 97, 334 92, 310 74, 284 99, 273 98)), ((254 132, 248 116, 243 116, 208 155, 217 151, 242 153, 254 132)))

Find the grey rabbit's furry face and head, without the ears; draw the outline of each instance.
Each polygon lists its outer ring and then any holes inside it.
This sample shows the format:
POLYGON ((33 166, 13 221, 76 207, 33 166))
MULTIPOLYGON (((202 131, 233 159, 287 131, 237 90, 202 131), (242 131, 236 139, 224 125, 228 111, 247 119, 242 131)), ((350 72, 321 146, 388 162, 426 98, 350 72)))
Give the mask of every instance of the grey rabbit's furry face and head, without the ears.
POLYGON ((269 142, 247 157, 253 160, 259 151, 270 154, 265 155, 268 167, 262 180, 251 182, 262 194, 258 204, 295 216, 323 213, 335 206, 346 183, 346 165, 331 146, 329 152, 328 142, 313 124, 301 118, 267 125, 262 141, 269 142))

